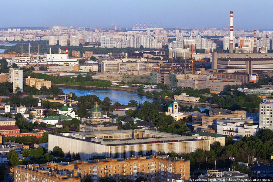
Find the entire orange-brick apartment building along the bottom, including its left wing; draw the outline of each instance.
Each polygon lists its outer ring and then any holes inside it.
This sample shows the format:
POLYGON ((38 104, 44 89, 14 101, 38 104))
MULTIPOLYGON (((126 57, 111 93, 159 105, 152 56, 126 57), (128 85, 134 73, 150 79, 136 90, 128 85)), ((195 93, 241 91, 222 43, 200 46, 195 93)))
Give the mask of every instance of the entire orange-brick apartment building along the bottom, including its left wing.
MULTIPOLYGON (((55 180, 56 182, 77 182, 79 177, 90 175, 93 182, 99 178, 113 177, 136 180, 145 177, 148 181, 167 181, 180 178, 189 180, 190 161, 169 157, 166 155, 131 156, 129 158, 106 158, 102 160, 77 160, 72 162, 47 162, 45 164, 29 164, 15 166, 15 177, 22 181, 22 177, 45 179, 41 181, 55 180), (47 178, 49 177, 49 178, 47 178), (59 179, 57 179, 59 177, 59 179)), ((27 181, 28 182, 28 181, 27 181)), ((30 181, 29 181, 30 182, 30 181)))

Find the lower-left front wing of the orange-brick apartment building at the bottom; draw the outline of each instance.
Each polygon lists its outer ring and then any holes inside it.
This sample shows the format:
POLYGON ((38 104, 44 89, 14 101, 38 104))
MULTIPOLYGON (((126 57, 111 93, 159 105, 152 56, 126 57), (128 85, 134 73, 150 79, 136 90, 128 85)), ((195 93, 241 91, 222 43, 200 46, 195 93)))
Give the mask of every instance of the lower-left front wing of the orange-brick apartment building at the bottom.
MULTIPOLYGON (((73 167, 74 168, 74 167, 73 167)), ((28 164, 14 167, 14 180, 16 182, 80 182, 81 178, 77 173, 68 174, 63 171, 56 171, 43 167, 42 164, 28 164)))

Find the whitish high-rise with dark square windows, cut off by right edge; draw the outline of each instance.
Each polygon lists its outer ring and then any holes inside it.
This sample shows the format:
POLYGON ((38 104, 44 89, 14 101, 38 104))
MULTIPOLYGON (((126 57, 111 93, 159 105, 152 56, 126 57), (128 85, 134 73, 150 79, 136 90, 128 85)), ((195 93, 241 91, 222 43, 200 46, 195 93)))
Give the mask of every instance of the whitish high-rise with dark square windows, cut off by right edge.
POLYGON ((273 130, 273 100, 272 99, 264 99, 263 102, 260 103, 260 125, 261 129, 270 129, 273 130))

